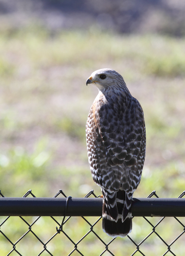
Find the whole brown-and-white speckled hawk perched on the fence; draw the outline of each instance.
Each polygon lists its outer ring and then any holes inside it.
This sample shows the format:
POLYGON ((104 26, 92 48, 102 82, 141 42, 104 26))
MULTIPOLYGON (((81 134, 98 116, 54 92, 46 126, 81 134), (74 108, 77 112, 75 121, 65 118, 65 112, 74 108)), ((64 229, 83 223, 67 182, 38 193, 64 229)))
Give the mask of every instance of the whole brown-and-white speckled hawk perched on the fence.
POLYGON ((103 195, 103 231, 125 237, 132 230, 132 196, 146 151, 143 110, 113 69, 94 71, 86 84, 99 90, 87 118, 86 139, 93 180, 103 195))

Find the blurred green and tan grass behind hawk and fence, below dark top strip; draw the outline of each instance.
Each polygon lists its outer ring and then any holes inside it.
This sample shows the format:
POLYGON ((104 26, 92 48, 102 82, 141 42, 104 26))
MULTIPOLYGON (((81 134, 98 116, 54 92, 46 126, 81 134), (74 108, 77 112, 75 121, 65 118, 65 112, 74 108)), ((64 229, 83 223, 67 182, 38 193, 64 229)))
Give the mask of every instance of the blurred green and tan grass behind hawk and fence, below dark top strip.
MULTIPOLYGON (((177 197, 185 190, 185 38, 119 35, 95 27, 53 34, 35 24, 1 31, 0 56, 0 189, 4 196, 21 197, 29 189, 37 197, 52 197, 59 189, 73 197, 83 197, 91 189, 101 193, 91 178, 85 139, 88 111, 98 91, 86 87, 85 82, 93 71, 106 67, 123 75, 144 110, 147 153, 134 196, 147 197, 156 190, 159 197, 177 197)), ((29 223, 34 219, 27 217, 29 223)), ((90 218, 91 223, 95 220, 90 218)), ((70 221, 66 232, 77 242, 89 227, 82 218, 70 221)), ((170 243, 181 229, 176 222, 169 222, 162 222, 158 231, 170 243)), ((147 225, 134 218, 131 237, 141 241, 152 230, 147 225)), ((33 229, 46 242, 55 227, 52 219, 45 217, 33 229)), ((110 241, 102 232, 101 221, 94 228, 110 241)), ((10 230, 8 237, 15 242, 27 226, 11 217, 1 230, 10 230)), ((55 256, 61 255, 61 248, 63 255, 73 249, 61 236, 48 244, 55 256)), ((42 250, 31 234, 21 243, 17 246, 23 255, 37 255, 42 250)), ((0 244, 4 256, 11 245, 3 236, 0 244)), ((91 255, 99 255, 105 249, 93 234, 82 244, 79 249, 84 255, 89 255, 89 250, 91 255)), ((173 245, 178 256, 184 255, 182 244, 179 240, 173 245)), ((157 255, 167 250, 154 235, 142 246, 150 256, 156 255, 156 250, 157 255)), ((127 238, 117 238, 110 250, 116 256, 123 255, 123 250, 129 255, 135 247, 127 238)))

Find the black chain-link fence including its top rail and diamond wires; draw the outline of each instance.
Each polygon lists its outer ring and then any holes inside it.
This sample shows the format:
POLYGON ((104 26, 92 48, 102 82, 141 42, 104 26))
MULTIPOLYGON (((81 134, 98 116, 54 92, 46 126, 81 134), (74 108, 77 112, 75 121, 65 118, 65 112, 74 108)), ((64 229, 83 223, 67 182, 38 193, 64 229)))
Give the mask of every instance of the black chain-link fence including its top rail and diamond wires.
MULTIPOLYGON (((37 254, 39 255, 91 255, 90 252, 88 254, 83 254, 82 249, 79 249, 79 245, 81 245, 90 234, 94 234, 97 241, 100 241, 104 247, 103 251, 100 254, 97 255, 125 255, 128 256, 128 254, 114 254, 114 249, 110 249, 110 246, 114 244, 117 240, 117 238, 113 238, 109 240, 109 242, 104 241, 100 234, 98 234, 97 231, 95 231, 95 225, 99 223, 102 215, 102 198, 98 198, 93 191, 90 191, 84 198, 72 198, 67 197, 62 190, 60 190, 53 198, 39 198, 35 197, 34 194, 29 190, 22 198, 21 197, 4 197, 3 194, 0 192, 0 216, 8 216, 7 218, 4 218, 3 221, 0 223, 0 252, 1 252, 1 245, 3 242, 8 242, 12 245, 12 249, 6 253, 2 254, 1 256, 5 255, 20 255, 24 256, 24 252, 20 252, 20 249, 17 249, 20 242, 28 236, 28 234, 33 234, 36 238, 36 241, 40 244, 42 244, 43 249, 37 254), (32 197, 27 197, 27 196, 32 197), (58 197, 59 195, 63 195, 64 197, 58 197), (94 196, 94 198, 90 198, 90 196, 94 196), (3 226, 6 225, 6 223, 9 221, 10 218, 13 218, 13 216, 19 216, 16 218, 20 218, 21 221, 23 221, 27 225, 27 231, 22 234, 16 240, 11 237, 10 233, 8 234, 7 230, 3 230, 3 226), (25 217, 22 216, 39 216, 36 218, 32 223, 29 223, 25 217), (41 216, 50 216, 53 220, 53 224, 55 224, 55 233, 45 242, 37 232, 33 231, 33 226, 37 221, 41 218, 41 216), (55 218, 54 218, 54 217, 55 218), (63 216, 62 221, 58 222, 56 217, 57 216, 63 216), (67 219, 65 219, 66 216, 69 216, 67 219), (82 219, 87 223, 89 226, 89 230, 76 242, 74 238, 69 236, 68 229, 65 230, 66 223, 68 223, 70 218, 73 218, 74 216, 81 216, 82 219), (91 224, 87 217, 84 218, 84 216, 96 216, 99 217, 95 221, 95 223, 91 224), (56 227, 57 225, 57 227, 56 227), (67 238, 68 241, 70 241, 71 244, 73 244, 73 249, 70 252, 62 252, 63 249, 60 250, 60 253, 54 253, 52 250, 48 249, 48 245, 54 241, 54 238, 58 236, 59 234, 63 233, 65 238, 67 238), (115 241, 116 240, 116 241, 115 241), (81 243, 81 244, 80 244, 81 243), (64 254, 66 253, 66 254, 64 254)), ((150 241, 151 237, 155 235, 159 238, 160 243, 165 246, 165 251, 161 253, 161 256, 164 255, 184 255, 177 254, 173 249, 171 249, 171 246, 175 244, 175 242, 180 241, 183 237, 185 240, 185 225, 182 223, 182 221, 185 223, 185 218, 183 220, 180 220, 177 217, 185 217, 185 191, 182 192, 182 194, 178 198, 159 198, 155 191, 153 191, 147 198, 134 198, 132 201, 132 215, 133 217, 143 217, 143 219, 146 221, 147 225, 149 224, 151 226, 151 231, 142 238, 139 242, 136 241, 137 239, 133 239, 131 235, 127 236, 128 241, 132 244, 132 246, 135 247, 132 253, 129 255, 144 255, 144 256, 150 256, 152 255, 151 249, 146 252, 146 250, 141 249, 143 244, 150 244, 148 241, 150 241), (183 198, 184 197, 184 198, 183 198), (159 221, 154 225, 152 221, 146 217, 155 217, 155 216, 161 216, 162 218, 159 219, 159 221), (163 235, 156 231, 158 229, 159 225, 161 226, 161 223, 165 219, 165 217, 174 217, 175 221, 177 221, 178 225, 180 225, 180 233, 175 235, 175 238, 173 238, 170 242, 165 241, 163 238, 163 235)), ((1 217, 2 218, 2 217, 1 217)), ((170 225, 170 223, 169 223, 170 225)), ((144 229, 144 227, 142 227, 144 229)), ((132 233, 131 233, 132 234, 132 233)), ((125 239, 125 238, 124 238, 125 239)), ((123 239, 123 240, 124 240, 123 239)), ((121 241, 123 241, 121 240, 121 241)), ((121 243, 120 240, 118 240, 119 243, 121 243)), ((64 250, 65 251, 65 250, 64 250)), ((184 243, 184 251, 185 251, 185 243, 184 243)), ((125 252, 126 253, 126 252, 125 252)), ((180 253, 180 252, 178 252, 180 253)), ((32 255, 32 254, 30 254, 32 255)), ((155 255, 155 254, 154 254, 155 255)), ((157 255, 157 254, 156 254, 157 255)))

